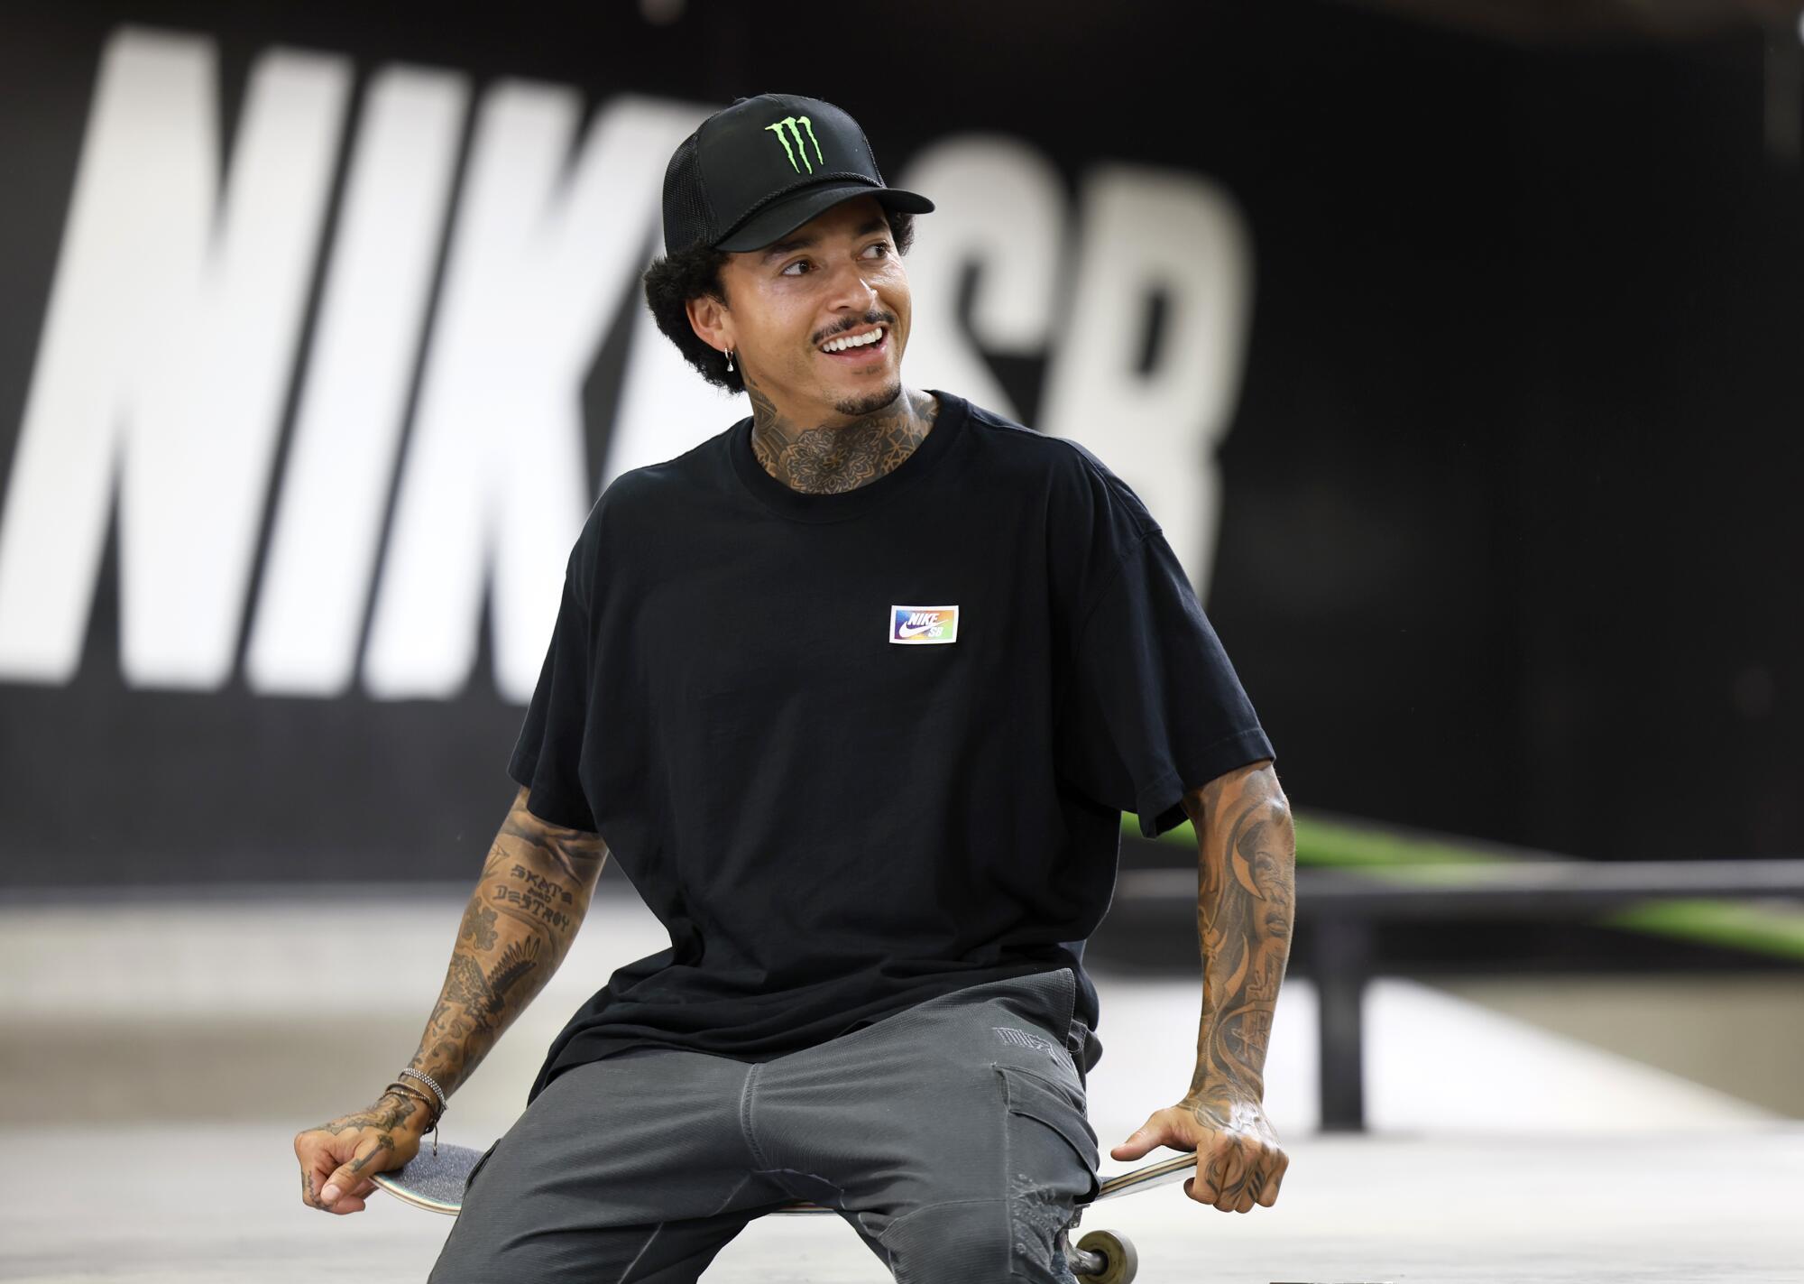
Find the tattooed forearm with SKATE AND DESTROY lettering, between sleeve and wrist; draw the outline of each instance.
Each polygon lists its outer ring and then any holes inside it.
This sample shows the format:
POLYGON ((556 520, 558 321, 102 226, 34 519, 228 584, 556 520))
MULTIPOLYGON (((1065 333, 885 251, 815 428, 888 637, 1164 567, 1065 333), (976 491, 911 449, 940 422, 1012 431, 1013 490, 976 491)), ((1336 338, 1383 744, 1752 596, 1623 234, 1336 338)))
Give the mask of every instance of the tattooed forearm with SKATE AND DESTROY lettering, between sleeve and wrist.
POLYGON ((447 1095, 469 1078, 570 952, 606 858, 601 835, 547 824, 518 793, 464 909, 411 1069, 447 1095))

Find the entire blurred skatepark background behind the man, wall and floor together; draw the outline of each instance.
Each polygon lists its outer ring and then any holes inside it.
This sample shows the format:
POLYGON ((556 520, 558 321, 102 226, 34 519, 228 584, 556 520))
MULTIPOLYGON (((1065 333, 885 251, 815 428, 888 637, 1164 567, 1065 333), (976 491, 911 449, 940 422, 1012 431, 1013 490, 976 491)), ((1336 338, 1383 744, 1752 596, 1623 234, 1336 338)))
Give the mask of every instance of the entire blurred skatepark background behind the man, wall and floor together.
MULTIPOLYGON (((747 413, 637 274, 772 90, 938 202, 909 381, 1142 494, 1297 806, 1293 1176, 1118 1205, 1147 1277, 1804 1279, 1791 0, 0 9, 0 1279, 424 1279, 287 1140, 413 1051, 590 501, 747 413)), ((1104 1152, 1200 1003, 1126 828, 1104 1152)), ((449 1140, 664 943, 610 867, 449 1140)), ((796 1223, 714 1271, 884 1279, 796 1223)))

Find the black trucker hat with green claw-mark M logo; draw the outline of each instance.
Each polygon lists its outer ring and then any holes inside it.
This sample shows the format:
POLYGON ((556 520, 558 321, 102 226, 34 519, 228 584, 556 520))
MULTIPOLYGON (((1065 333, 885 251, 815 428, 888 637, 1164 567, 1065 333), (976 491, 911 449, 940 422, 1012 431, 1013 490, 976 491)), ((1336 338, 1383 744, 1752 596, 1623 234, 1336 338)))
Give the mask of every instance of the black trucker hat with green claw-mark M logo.
POLYGON ((886 188, 864 130, 832 103, 794 94, 741 97, 678 144, 664 170, 664 252, 693 245, 763 249, 830 206, 877 197, 909 215, 933 211, 886 188))

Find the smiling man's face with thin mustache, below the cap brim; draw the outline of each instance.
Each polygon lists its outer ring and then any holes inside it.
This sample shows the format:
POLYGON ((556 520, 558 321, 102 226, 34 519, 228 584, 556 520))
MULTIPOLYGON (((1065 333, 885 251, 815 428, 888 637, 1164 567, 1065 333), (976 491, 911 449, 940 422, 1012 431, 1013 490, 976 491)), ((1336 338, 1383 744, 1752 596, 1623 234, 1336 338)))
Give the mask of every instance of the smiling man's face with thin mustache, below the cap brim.
POLYGON ((729 254, 722 285, 729 346, 752 395, 779 413, 833 422, 900 395, 907 274, 875 197, 842 200, 774 245, 729 254))

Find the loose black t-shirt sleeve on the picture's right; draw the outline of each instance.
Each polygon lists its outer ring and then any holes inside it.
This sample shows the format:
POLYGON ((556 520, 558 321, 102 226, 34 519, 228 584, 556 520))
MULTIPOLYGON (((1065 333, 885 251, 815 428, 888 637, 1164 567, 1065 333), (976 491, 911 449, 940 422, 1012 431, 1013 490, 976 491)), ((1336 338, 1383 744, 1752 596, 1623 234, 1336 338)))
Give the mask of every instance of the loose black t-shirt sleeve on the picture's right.
POLYGON ((1140 817, 1147 839, 1182 824, 1187 788, 1272 757, 1221 640, 1164 532, 1147 525, 1099 575, 1077 626, 1061 720, 1061 772, 1140 817))

